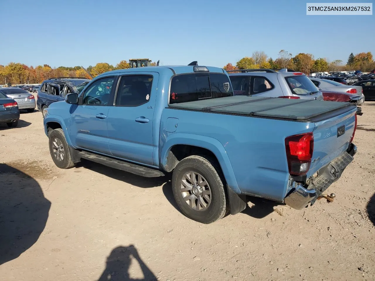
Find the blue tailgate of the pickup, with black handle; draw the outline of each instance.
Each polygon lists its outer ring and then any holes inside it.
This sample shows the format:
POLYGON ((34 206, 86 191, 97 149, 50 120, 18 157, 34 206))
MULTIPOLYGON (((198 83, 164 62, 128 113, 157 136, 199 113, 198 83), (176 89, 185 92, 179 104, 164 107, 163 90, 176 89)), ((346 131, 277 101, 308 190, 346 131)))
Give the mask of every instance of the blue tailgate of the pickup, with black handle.
POLYGON ((356 112, 356 107, 350 106, 341 109, 339 115, 315 121, 314 152, 308 177, 347 150, 354 132, 356 112))

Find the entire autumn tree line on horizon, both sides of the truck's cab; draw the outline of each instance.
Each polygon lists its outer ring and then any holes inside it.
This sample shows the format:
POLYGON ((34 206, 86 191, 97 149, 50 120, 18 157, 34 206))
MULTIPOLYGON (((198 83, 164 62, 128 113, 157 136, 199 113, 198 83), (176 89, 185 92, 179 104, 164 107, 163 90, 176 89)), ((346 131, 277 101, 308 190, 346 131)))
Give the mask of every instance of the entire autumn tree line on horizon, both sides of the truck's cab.
MULTIPOLYGON (((155 66, 153 62, 151 65, 155 66)), ((101 73, 115 70, 130 68, 129 62, 126 60, 120 61, 113 66, 108 63, 97 63, 95 66, 87 67, 87 71, 95 77, 101 73)), ((326 58, 314 59, 314 55, 299 53, 293 55, 281 50, 278 58, 273 60, 269 58, 263 51, 255 51, 251 57, 244 57, 237 61, 236 65, 228 63, 223 67, 225 70, 236 69, 282 69, 290 68, 296 71, 310 74, 312 72, 324 71, 345 71, 345 70, 361 70, 362 72, 369 72, 375 69, 375 62, 371 52, 362 52, 354 55, 351 53, 346 64, 341 60, 334 60, 329 62, 326 58)), ((0 85, 7 83, 12 84, 36 84, 50 77, 84 77, 90 79, 90 76, 82 69, 81 66, 75 67, 50 67, 48 64, 39 65, 36 67, 27 66, 21 63, 9 63, 6 66, 0 65, 0 85)))

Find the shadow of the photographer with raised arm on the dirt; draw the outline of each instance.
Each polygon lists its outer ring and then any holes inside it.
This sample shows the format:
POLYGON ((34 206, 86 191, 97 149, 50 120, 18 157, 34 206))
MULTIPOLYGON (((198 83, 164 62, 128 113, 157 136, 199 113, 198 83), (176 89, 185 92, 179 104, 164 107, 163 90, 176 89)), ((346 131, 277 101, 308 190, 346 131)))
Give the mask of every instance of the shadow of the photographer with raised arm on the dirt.
POLYGON ((99 277, 98 281, 156 281, 155 275, 145 265, 141 257, 139 257, 138 251, 133 245, 127 247, 118 246, 114 248, 111 254, 107 257, 106 267, 99 277), (134 258, 141 270, 144 278, 133 279, 129 276, 129 268, 132 262, 131 258, 134 258))

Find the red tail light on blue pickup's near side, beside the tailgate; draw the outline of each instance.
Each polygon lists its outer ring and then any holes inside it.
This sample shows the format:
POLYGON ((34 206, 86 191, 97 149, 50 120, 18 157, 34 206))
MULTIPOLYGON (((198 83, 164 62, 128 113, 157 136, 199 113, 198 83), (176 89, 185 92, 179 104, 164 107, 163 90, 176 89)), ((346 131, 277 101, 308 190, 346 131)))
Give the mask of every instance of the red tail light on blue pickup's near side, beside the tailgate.
POLYGON ((285 149, 289 173, 304 175, 310 169, 312 152, 314 151, 314 136, 312 133, 285 138, 285 149))

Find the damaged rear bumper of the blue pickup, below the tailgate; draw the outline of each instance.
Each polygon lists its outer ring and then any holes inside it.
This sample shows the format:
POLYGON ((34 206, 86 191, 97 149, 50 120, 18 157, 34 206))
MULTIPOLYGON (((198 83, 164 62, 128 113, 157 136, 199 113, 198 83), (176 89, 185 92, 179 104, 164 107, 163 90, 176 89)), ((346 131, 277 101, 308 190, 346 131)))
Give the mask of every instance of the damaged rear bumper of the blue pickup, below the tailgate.
POLYGON ((347 151, 335 158, 327 166, 318 171, 318 176, 305 188, 297 184, 285 198, 284 202, 293 209, 300 210, 309 203, 313 205, 319 196, 337 181, 348 164, 353 161, 353 155, 357 152, 357 146, 350 143, 347 151))

